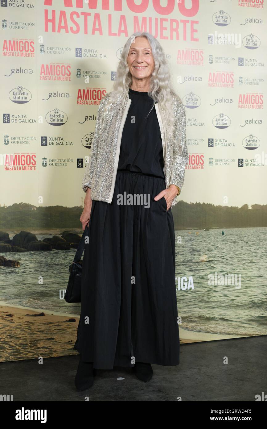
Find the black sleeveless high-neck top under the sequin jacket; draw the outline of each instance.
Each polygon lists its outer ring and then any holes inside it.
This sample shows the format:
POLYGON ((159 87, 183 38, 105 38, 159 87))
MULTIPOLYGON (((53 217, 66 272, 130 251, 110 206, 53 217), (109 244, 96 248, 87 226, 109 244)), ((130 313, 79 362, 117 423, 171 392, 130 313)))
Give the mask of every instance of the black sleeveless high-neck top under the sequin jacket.
POLYGON ((129 88, 132 100, 123 127, 118 171, 132 171, 165 179, 162 138, 155 106, 148 92, 129 88))

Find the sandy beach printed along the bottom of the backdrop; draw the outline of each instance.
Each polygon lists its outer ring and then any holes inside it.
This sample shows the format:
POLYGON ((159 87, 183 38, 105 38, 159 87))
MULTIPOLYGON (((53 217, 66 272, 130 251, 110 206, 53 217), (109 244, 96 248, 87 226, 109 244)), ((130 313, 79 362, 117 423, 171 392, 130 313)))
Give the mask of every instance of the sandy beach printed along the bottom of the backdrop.
MULTIPOLYGON (((73 349, 78 323, 77 314, 9 306, 0 302, 0 362, 79 354, 73 349), (45 315, 35 316, 39 313, 45 315)), ((179 334, 180 344, 237 338, 236 335, 188 331, 180 326, 179 334)))

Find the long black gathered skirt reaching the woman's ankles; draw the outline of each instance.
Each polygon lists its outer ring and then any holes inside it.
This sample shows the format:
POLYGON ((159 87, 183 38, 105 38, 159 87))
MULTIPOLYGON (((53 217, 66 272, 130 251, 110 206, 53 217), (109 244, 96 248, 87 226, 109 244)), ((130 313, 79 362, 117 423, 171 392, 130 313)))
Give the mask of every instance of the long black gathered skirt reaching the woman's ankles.
POLYGON ((154 200, 164 189, 163 178, 118 171, 112 202, 93 200, 74 349, 96 369, 179 364, 174 221, 154 200), (120 194, 146 197, 119 205, 120 194))

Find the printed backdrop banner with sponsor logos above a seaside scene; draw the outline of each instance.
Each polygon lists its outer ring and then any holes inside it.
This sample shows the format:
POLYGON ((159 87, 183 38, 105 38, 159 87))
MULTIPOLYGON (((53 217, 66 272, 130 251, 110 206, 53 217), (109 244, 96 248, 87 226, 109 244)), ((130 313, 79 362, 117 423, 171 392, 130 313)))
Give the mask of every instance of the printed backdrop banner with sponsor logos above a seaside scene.
POLYGON ((0 12, 0 360, 78 353, 80 305, 63 296, 82 178, 136 31, 159 40, 186 106, 180 341, 267 334, 266 0, 0 0, 0 12))

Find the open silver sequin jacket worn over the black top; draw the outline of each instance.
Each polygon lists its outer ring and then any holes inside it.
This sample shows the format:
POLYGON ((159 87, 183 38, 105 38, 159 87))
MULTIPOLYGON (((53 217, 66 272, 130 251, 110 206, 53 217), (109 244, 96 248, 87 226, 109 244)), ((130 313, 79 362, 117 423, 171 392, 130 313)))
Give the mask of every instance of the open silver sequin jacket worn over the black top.
MULTIPOLYGON (((99 104, 91 157, 85 166, 82 188, 84 192, 88 187, 91 188, 91 199, 111 203, 119 162, 121 136, 132 100, 128 93, 120 95, 115 103, 109 105, 104 116, 103 111, 105 103, 109 100, 109 94, 106 94, 99 104)), ((166 188, 170 184, 175 184, 182 189, 185 167, 188 163, 186 112, 183 103, 174 94, 172 107, 174 109, 175 144, 170 138, 165 139, 159 106, 158 103, 155 104, 162 138, 166 188)), ((178 196, 174 198, 171 206, 177 202, 178 196)))

